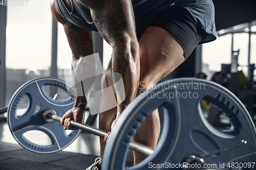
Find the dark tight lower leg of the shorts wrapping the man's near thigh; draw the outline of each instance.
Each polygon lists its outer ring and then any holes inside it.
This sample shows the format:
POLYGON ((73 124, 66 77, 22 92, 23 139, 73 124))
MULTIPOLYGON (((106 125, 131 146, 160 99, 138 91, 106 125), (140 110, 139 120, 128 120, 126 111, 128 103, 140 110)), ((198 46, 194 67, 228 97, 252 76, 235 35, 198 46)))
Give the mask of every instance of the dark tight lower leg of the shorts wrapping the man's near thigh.
POLYGON ((207 33, 197 26, 193 16, 182 7, 161 13, 148 25, 152 26, 160 27, 172 35, 183 48, 185 59, 207 36, 207 33))

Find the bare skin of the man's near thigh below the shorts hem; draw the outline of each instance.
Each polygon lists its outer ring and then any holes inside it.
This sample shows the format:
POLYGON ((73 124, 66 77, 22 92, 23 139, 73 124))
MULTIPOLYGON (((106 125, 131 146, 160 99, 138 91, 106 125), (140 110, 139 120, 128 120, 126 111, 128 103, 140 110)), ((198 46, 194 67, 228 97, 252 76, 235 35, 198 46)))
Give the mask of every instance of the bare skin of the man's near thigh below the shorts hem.
POLYGON ((179 42, 162 28, 148 27, 139 44, 140 86, 137 95, 153 87, 185 60, 179 42))

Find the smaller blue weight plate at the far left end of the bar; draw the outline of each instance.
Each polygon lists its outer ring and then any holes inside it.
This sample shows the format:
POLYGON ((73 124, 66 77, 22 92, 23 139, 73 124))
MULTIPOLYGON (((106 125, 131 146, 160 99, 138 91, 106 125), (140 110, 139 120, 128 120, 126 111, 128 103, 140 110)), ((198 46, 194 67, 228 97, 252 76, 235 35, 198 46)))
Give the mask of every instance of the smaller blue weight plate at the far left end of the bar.
MULTIPOLYGON (((8 106, 7 123, 13 137, 24 148, 36 153, 58 152, 71 144, 79 135, 80 130, 66 134, 60 122, 47 123, 42 113, 47 109, 53 109, 58 116, 62 116, 74 105, 74 96, 64 101, 53 100, 46 92, 45 86, 56 86, 67 91, 66 83, 56 78, 38 78, 22 85, 12 96, 8 106), (29 105, 27 111, 16 115, 20 101, 27 95, 29 105), (45 132, 51 139, 51 145, 38 145, 24 137, 24 133, 31 130, 45 132)), ((72 87, 70 86, 72 89, 72 87)), ((73 89, 74 90, 74 89, 73 89)))

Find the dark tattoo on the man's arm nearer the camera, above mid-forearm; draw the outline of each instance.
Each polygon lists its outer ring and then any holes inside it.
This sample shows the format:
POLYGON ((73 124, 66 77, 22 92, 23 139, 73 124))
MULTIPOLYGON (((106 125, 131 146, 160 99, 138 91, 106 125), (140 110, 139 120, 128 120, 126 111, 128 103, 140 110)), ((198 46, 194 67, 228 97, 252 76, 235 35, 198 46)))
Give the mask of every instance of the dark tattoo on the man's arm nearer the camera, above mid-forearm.
POLYGON ((126 68, 129 66, 129 58, 132 57, 131 48, 127 47, 127 44, 132 46, 134 40, 137 40, 131 1, 80 1, 91 8, 93 21, 101 36, 110 43, 112 47, 119 46, 119 48, 115 49, 115 54, 113 54, 113 60, 115 61, 112 60, 112 63, 116 62, 116 67, 112 69, 115 72, 119 72, 122 77, 124 77, 126 68))

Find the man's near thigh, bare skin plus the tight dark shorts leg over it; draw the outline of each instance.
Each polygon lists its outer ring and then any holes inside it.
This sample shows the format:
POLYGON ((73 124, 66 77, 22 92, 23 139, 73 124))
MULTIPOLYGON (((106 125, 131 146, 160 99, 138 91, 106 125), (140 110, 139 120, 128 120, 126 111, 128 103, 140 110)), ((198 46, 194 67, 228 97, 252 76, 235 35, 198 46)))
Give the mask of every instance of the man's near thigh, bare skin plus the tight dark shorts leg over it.
POLYGON ((172 72, 207 35, 184 8, 164 11, 148 26, 139 41, 142 89, 172 72))

